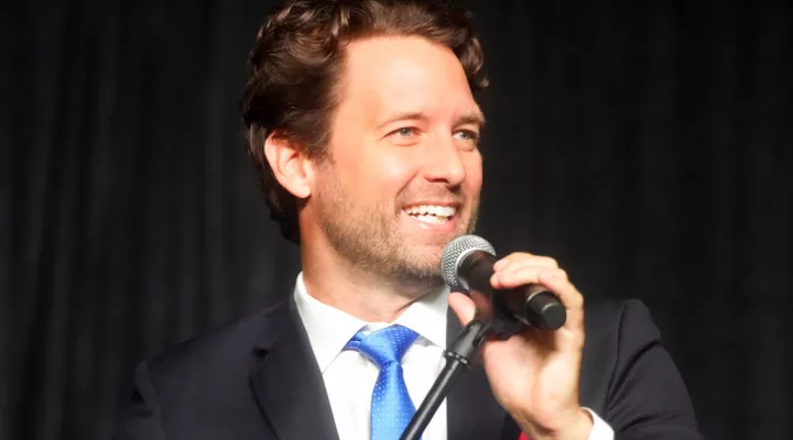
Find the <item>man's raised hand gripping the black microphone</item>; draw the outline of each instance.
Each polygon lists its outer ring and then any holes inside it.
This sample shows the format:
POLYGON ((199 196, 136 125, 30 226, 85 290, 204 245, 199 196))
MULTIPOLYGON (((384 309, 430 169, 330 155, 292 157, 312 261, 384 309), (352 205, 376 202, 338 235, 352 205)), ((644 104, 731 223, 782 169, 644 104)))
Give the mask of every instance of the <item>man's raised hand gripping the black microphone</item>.
MULTIPOLYGON (((586 439, 593 419, 578 403, 584 297, 546 256, 513 253, 493 270, 493 288, 540 284, 555 293, 567 311, 565 324, 556 331, 526 327, 506 341, 485 342, 481 358, 496 399, 533 440, 586 439)), ((464 326, 474 318, 468 296, 453 293, 448 302, 464 326)))

